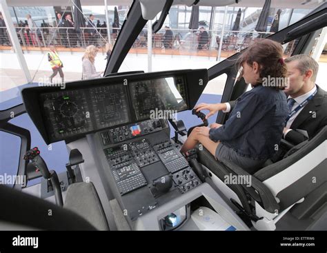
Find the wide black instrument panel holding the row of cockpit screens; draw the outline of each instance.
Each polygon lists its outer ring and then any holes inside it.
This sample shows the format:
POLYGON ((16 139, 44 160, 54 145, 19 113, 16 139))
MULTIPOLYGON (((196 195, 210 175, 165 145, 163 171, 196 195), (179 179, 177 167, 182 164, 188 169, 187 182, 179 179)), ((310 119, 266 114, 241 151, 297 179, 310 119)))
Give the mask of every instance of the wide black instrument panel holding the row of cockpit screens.
MULTIPOLYGON (((57 86, 25 88, 21 93, 26 111, 49 144, 74 141, 126 123, 168 119, 192 108, 206 83, 206 69, 174 70, 75 81, 66 83, 64 90, 57 86)), ((140 130, 133 125, 122 131, 137 136, 140 130)))

